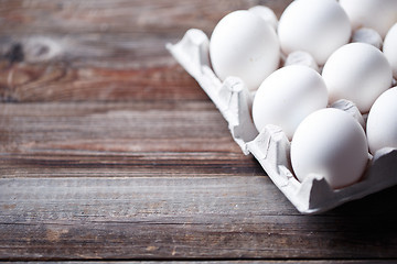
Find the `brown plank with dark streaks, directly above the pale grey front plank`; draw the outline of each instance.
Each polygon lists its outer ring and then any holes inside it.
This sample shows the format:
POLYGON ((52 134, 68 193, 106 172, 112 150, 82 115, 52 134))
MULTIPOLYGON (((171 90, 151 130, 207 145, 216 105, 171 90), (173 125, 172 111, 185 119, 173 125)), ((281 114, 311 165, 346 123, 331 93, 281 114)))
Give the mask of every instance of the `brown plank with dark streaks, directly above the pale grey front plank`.
POLYGON ((210 101, 0 105, 1 177, 264 175, 210 101))

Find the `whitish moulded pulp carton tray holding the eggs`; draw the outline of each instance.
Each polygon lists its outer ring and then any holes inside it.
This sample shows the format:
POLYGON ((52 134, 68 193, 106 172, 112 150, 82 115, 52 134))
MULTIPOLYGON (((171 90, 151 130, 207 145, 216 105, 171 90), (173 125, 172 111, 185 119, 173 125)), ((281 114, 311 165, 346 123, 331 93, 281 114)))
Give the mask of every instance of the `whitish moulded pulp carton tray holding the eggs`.
MULTIPOLYGON (((218 108, 244 154, 255 156, 273 184, 301 213, 324 212, 397 184, 397 150, 391 147, 383 148, 374 156, 368 154, 365 174, 348 187, 332 189, 324 177, 316 174, 300 183, 292 174, 290 142, 286 134, 276 125, 267 125, 258 133, 250 116, 254 95, 237 77, 221 81, 215 76, 210 64, 208 45, 204 32, 191 29, 179 43, 169 43, 167 48, 218 108)), ((353 103, 341 100, 331 107, 351 113, 365 125, 353 103)))

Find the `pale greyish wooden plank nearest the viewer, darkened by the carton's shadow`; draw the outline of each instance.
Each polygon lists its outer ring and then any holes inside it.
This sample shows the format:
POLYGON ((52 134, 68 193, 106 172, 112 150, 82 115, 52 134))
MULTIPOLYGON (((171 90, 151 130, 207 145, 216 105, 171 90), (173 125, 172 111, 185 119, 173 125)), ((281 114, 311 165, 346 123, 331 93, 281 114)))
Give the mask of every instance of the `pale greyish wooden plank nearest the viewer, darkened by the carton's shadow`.
POLYGON ((265 176, 3 178, 0 188, 2 260, 397 257, 396 188, 312 217, 265 176))

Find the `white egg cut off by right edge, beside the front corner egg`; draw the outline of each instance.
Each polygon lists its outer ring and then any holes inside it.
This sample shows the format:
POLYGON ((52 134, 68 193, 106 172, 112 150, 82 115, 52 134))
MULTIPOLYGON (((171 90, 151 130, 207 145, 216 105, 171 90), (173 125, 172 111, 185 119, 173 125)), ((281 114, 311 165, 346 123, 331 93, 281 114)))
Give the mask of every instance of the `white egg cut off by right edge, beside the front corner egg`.
POLYGON ((397 87, 388 89, 371 108, 367 138, 371 153, 389 146, 397 147, 397 87))

